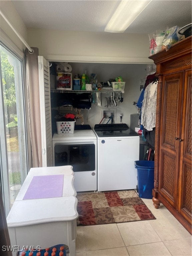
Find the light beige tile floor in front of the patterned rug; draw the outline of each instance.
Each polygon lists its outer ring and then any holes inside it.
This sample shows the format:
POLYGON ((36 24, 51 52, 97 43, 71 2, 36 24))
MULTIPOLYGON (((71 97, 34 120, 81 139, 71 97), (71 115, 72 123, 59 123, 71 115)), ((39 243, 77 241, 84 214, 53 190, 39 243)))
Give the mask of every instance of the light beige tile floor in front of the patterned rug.
POLYGON ((192 236, 161 204, 156 220, 77 226, 76 256, 192 256, 192 236))

